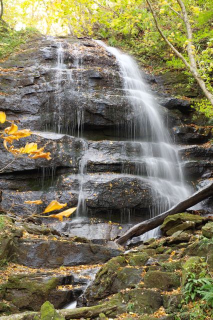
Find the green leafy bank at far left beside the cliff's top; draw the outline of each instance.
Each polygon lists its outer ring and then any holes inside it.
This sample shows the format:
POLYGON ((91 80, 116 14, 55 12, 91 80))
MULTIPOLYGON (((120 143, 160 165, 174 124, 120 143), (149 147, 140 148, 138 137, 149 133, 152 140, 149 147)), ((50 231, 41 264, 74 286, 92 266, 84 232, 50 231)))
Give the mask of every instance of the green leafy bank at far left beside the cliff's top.
POLYGON ((12 52, 18 50, 20 45, 36 32, 34 28, 26 28, 20 31, 10 28, 7 30, 0 29, 0 59, 4 59, 12 52))

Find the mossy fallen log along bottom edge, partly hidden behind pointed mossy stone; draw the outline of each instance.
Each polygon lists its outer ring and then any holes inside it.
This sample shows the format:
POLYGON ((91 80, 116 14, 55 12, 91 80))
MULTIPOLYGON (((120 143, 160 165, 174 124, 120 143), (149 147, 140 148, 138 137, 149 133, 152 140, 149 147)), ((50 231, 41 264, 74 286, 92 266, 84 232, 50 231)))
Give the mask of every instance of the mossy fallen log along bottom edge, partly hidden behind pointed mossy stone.
MULTIPOLYGON (((80 319, 80 318, 93 318, 98 316, 99 313, 109 314, 111 311, 116 310, 116 305, 99 304, 94 306, 84 306, 73 309, 60 309, 57 312, 62 315, 66 320, 80 319)), ((40 312, 25 311, 23 313, 10 314, 0 316, 0 320, 32 320, 35 315, 39 316, 40 312)))

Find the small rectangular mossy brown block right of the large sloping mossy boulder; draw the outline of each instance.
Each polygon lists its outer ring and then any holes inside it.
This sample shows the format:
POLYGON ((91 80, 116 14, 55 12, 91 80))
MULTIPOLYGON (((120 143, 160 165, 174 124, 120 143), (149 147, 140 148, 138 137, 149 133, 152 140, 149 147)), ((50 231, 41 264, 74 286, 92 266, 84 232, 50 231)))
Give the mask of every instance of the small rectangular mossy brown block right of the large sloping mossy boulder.
POLYGON ((180 286, 180 277, 175 272, 148 271, 144 275, 144 285, 147 288, 170 291, 180 286))

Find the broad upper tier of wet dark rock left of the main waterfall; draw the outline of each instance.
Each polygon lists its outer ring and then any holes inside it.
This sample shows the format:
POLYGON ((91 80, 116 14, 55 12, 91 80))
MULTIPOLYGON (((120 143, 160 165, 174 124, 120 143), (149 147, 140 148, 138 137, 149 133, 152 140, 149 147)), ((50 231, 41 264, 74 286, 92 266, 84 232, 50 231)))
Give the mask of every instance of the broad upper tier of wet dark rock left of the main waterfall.
POLYGON ((33 45, 25 44, 23 52, 4 63, 5 68, 13 70, 9 78, 1 76, 0 88, 6 93, 1 97, 1 109, 24 127, 37 130, 58 129, 60 118, 64 132, 70 133, 77 126, 77 112, 84 112, 85 125, 122 123, 128 106, 115 58, 97 48, 95 42, 89 42, 93 46, 84 46, 77 39, 40 37, 34 39, 33 45), (59 42, 64 48, 64 65, 58 78, 59 42), (60 114, 55 114, 58 99, 62 108, 60 114))

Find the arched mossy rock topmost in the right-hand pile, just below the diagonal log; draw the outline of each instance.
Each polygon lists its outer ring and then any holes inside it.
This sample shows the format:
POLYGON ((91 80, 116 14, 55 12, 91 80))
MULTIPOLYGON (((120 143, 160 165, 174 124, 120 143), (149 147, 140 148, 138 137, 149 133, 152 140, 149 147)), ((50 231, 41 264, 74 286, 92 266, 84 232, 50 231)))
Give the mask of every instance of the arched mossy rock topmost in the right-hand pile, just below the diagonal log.
POLYGON ((166 232, 171 229, 176 227, 179 224, 182 224, 185 221, 192 221, 195 223, 195 225, 199 225, 202 223, 203 218, 199 215, 195 214, 190 214, 187 212, 183 213, 176 213, 173 215, 168 215, 162 225, 160 226, 160 229, 162 230, 163 234, 166 234, 166 232))

